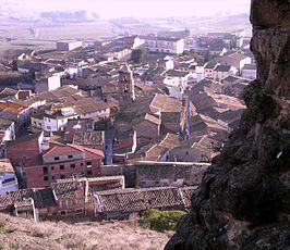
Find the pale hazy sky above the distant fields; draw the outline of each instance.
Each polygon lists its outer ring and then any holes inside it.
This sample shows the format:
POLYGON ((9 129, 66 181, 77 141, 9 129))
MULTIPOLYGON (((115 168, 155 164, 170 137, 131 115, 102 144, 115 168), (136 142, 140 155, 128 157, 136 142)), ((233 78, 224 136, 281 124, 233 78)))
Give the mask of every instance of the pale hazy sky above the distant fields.
POLYGON ((104 18, 120 16, 191 16, 246 13, 251 0, 0 0, 2 8, 22 10, 88 10, 104 18))

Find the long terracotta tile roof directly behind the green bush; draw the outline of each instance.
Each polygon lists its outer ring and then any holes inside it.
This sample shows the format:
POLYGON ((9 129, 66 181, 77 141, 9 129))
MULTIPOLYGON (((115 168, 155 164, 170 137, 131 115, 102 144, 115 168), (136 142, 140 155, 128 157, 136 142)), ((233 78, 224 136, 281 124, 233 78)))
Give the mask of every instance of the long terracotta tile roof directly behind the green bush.
MULTIPOLYGON (((179 188, 119 189, 94 193, 100 202, 99 212, 142 212, 147 209, 185 209, 179 188)), ((186 199, 186 198, 185 198, 186 199)))

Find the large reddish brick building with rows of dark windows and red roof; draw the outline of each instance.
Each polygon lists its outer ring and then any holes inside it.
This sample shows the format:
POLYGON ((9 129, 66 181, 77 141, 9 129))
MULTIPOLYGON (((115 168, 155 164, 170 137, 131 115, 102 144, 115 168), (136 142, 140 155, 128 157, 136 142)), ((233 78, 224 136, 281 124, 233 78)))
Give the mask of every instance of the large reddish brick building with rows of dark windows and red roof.
POLYGON ((104 153, 73 145, 50 145, 35 159, 25 159, 22 172, 27 187, 49 187, 57 179, 100 176, 104 153))

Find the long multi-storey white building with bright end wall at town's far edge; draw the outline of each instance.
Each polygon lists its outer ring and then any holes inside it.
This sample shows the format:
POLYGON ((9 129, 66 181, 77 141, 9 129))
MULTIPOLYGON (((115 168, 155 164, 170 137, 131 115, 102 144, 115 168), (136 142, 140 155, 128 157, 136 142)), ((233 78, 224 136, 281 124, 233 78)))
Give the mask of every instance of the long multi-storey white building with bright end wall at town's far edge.
POLYGON ((148 36, 145 38, 145 48, 150 52, 182 54, 184 51, 183 38, 168 38, 148 36))

